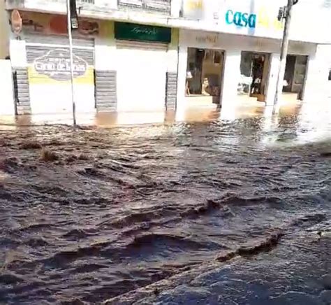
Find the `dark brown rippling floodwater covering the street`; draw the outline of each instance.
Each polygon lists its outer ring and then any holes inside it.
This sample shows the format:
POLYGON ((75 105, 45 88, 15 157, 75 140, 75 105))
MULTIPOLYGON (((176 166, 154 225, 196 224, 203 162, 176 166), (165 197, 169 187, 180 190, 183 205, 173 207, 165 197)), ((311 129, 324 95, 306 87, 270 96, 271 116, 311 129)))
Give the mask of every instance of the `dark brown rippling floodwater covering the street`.
POLYGON ((329 304, 330 124, 265 120, 1 132, 0 304, 329 304))

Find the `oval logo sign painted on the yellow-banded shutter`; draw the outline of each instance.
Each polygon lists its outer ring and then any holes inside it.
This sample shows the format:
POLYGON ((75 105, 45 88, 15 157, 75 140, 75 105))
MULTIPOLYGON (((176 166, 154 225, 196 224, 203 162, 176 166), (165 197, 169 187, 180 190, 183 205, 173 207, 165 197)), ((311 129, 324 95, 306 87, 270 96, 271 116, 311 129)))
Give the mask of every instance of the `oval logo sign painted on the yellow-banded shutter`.
MULTIPOLYGON (((75 78, 84 76, 88 64, 84 59, 73 55, 73 75, 75 78)), ((53 80, 66 81, 71 79, 70 52, 67 49, 54 49, 34 61, 36 73, 48 76, 53 80)))

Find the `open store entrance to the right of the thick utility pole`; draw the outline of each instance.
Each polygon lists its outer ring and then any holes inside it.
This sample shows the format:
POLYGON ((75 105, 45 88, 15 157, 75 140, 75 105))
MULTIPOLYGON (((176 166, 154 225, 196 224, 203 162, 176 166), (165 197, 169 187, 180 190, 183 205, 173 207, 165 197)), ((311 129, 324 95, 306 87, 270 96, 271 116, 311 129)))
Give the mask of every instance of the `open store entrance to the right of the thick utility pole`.
POLYGON ((283 95, 287 100, 302 100, 304 79, 306 77, 308 57, 304 55, 288 55, 283 84, 283 95))

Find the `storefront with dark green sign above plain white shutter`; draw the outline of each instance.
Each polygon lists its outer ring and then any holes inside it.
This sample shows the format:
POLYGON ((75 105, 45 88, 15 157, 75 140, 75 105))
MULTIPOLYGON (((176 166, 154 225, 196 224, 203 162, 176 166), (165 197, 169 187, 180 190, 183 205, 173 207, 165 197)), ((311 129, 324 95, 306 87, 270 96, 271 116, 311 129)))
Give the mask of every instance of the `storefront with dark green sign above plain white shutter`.
POLYGON ((115 22, 114 31, 117 111, 175 108, 177 58, 171 55, 176 51, 172 48, 173 30, 115 22))

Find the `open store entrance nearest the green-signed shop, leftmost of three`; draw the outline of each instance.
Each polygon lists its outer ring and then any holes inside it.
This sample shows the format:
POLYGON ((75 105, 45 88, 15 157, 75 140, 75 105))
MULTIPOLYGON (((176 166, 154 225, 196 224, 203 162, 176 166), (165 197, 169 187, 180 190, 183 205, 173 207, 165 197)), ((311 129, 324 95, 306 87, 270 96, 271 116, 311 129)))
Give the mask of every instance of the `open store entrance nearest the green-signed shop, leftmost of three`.
POLYGON ((223 75, 223 51, 189 48, 185 95, 189 102, 219 104, 223 75))

